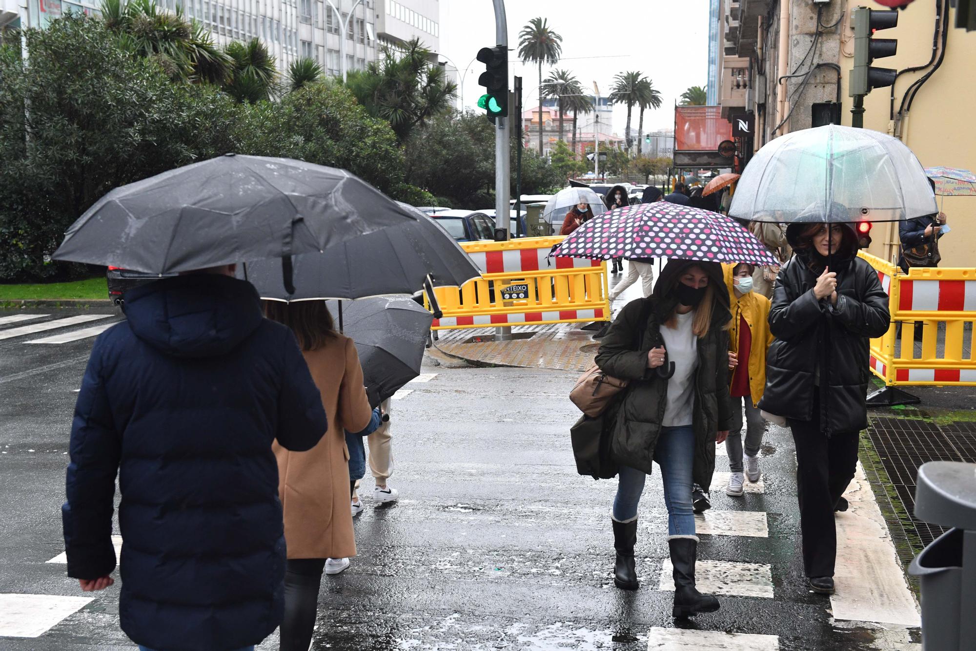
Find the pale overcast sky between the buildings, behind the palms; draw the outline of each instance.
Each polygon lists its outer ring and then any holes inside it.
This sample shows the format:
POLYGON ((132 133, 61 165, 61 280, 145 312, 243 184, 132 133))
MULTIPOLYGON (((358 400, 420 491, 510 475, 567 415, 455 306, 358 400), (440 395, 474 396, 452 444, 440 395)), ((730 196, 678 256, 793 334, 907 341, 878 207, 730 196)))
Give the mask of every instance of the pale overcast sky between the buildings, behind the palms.
MULTIPOLYGON (((518 62, 518 33, 537 16, 562 36, 562 60, 553 67, 576 74, 587 92, 599 84, 609 94, 613 77, 640 70, 662 95, 661 109, 644 113, 644 129, 674 125, 675 100, 689 86, 705 86, 709 56, 709 0, 507 0, 508 74, 521 75, 523 105, 538 106, 539 68, 518 62)), ((464 106, 473 108, 483 89, 484 65, 468 65, 478 50, 495 45, 492 0, 440 0, 440 49, 465 73, 464 106)), ((543 78, 549 74, 543 65, 543 78)), ((460 91, 459 91, 460 92, 460 91)), ((614 109, 613 129, 624 135, 627 108, 614 109)), ((636 134, 637 114, 632 118, 636 134)))

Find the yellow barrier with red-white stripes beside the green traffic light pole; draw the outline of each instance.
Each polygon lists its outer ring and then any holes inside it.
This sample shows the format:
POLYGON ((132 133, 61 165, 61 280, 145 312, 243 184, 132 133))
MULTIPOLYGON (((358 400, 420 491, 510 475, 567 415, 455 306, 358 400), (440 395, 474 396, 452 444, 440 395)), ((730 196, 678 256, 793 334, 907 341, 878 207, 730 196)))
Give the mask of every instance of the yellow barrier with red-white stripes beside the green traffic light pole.
POLYGON ((481 278, 434 289, 433 329, 610 321, 606 263, 549 257, 562 239, 462 243, 481 278))

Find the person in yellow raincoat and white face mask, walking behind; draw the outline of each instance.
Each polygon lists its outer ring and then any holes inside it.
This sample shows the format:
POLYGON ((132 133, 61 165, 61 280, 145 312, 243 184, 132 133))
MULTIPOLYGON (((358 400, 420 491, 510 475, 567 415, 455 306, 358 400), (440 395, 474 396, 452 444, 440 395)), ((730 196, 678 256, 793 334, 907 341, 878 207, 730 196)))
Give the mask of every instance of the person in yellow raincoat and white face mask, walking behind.
POLYGON ((765 418, 756 407, 766 385, 766 349, 773 342, 769 331, 769 299, 752 291, 752 265, 722 265, 732 302, 729 324, 729 367, 732 377, 732 426, 725 439, 729 457, 729 483, 725 495, 745 494, 745 480, 759 481, 759 446, 766 429, 765 418), (743 450, 743 409, 746 412, 746 445, 743 450), (745 453, 745 465, 743 456, 745 453), (745 471, 745 472, 744 472, 745 471))

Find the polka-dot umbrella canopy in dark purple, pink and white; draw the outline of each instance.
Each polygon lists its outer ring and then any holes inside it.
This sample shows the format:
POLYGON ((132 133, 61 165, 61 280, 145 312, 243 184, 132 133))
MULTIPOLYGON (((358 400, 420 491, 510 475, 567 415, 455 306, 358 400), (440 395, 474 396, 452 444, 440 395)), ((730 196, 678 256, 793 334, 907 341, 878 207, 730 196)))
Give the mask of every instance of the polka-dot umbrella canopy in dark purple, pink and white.
POLYGON ((615 208, 576 229, 553 252, 607 260, 681 258, 775 265, 776 258, 734 219, 668 201, 615 208))

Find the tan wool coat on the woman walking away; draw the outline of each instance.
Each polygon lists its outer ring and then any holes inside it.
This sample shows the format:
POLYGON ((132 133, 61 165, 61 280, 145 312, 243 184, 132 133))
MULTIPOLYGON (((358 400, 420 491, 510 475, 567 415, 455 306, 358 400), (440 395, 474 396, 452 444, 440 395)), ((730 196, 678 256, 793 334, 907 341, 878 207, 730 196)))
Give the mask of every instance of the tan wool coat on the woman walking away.
POLYGON ((372 415, 363 371, 352 339, 343 335, 303 355, 322 394, 329 431, 307 452, 289 452, 277 441, 273 445, 288 558, 354 556, 346 429, 362 431, 372 415))

